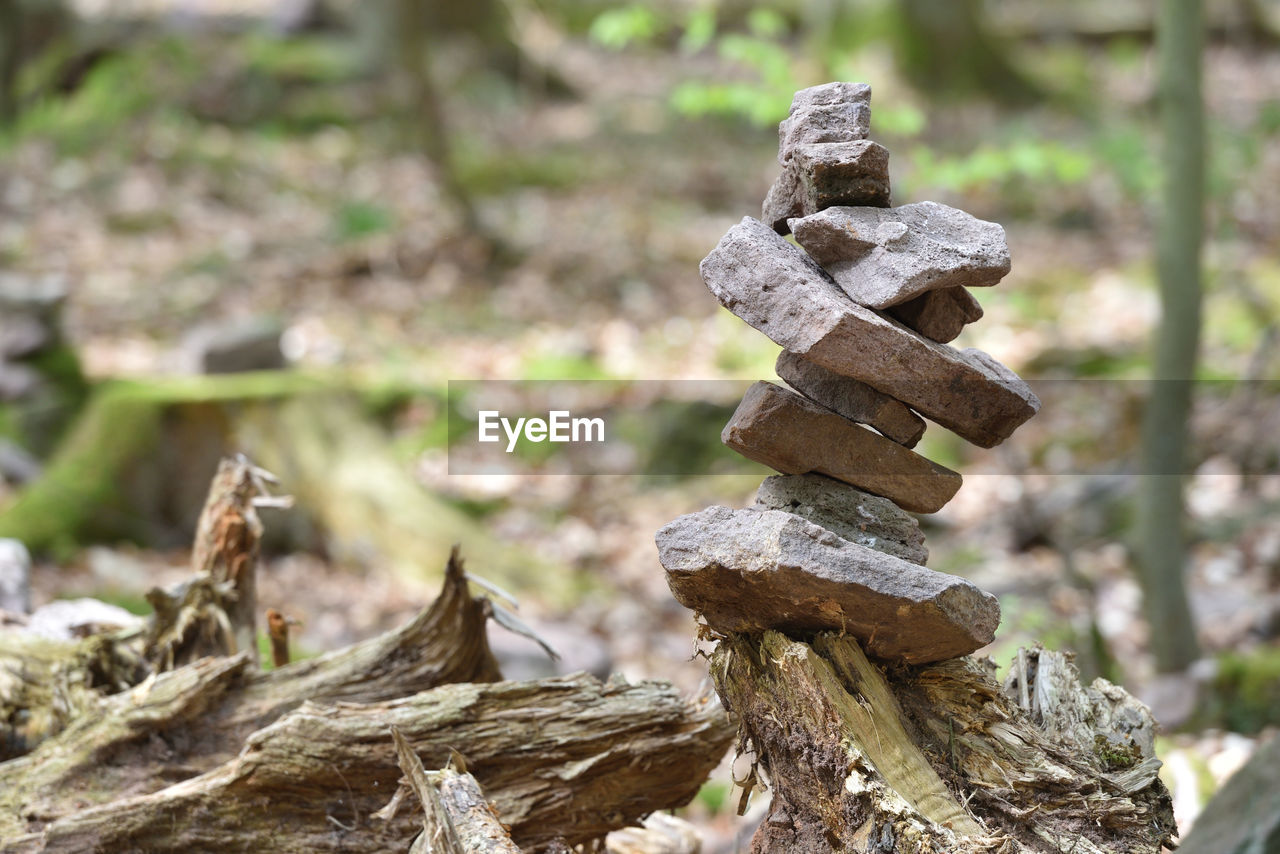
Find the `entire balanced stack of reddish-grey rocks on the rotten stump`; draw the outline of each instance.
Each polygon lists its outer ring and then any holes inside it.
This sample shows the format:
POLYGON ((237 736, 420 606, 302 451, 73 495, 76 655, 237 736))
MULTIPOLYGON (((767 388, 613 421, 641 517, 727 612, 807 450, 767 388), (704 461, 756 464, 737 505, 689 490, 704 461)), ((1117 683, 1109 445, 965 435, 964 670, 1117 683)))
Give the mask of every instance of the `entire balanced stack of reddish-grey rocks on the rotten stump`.
POLYGON ((799 92, 778 128, 782 174, 701 262, 730 311, 783 347, 722 439, 782 472, 754 507, 709 507, 660 531, 672 593, 721 634, 836 630, 920 665, 989 643, 996 598, 924 567, 909 515, 960 475, 911 448, 924 417, 989 448, 1039 408, 1030 388, 952 341, 1009 273, 1004 229, 936 202, 890 206, 888 152, 867 138, 870 88, 799 92), (785 239, 795 236, 799 247, 785 239))

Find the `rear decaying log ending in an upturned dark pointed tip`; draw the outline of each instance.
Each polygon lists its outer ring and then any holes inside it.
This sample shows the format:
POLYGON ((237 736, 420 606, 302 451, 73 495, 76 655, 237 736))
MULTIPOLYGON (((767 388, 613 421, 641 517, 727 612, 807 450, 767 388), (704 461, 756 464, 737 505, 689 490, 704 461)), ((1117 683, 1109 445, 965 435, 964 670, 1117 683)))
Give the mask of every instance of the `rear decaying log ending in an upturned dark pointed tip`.
MULTIPOLYGON (((79 784, 86 776, 93 781, 90 789, 105 800, 154 793, 210 771, 239 753, 251 732, 303 700, 380 703, 449 682, 495 681, 500 673, 485 636, 488 611, 486 599, 468 593, 454 549, 440 595, 396 631, 266 672, 247 667, 248 653, 201 659, 172 671, 204 685, 198 718, 186 713, 152 716, 152 731, 132 726, 68 731, 41 744, 20 763, 0 764, 0 839, 29 830, 27 816, 49 822, 81 809, 84 795, 79 784), (211 661, 241 663, 209 665, 211 661), (227 677, 205 685, 191 675, 210 667, 225 668, 227 677), (157 731, 163 732, 159 737, 157 731)), ((157 677, 150 690, 173 684, 157 677)), ((128 718, 136 703, 134 693, 116 694, 93 705, 91 717, 108 723, 128 718)))

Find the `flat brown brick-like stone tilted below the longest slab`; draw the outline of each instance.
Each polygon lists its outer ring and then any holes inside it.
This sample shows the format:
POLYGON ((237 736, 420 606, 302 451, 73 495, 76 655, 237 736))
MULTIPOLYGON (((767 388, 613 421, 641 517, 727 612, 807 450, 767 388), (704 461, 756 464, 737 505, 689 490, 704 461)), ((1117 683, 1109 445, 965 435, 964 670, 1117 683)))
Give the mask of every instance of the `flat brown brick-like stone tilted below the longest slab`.
POLYGON ((721 440, 785 475, 817 471, 916 513, 942 510, 960 489, 955 471, 769 383, 748 389, 721 440))

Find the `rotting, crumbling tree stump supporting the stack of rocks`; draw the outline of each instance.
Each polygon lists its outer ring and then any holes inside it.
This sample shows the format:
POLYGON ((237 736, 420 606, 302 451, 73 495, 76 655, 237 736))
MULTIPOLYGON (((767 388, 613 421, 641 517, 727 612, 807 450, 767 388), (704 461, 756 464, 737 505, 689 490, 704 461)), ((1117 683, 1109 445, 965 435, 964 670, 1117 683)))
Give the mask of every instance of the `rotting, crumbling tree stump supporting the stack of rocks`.
POLYGON ((712 673, 773 789, 751 850, 1160 851, 1149 711, 1062 656, 1021 661, 1006 694, 989 661, 886 672, 832 632, 722 640, 712 673))

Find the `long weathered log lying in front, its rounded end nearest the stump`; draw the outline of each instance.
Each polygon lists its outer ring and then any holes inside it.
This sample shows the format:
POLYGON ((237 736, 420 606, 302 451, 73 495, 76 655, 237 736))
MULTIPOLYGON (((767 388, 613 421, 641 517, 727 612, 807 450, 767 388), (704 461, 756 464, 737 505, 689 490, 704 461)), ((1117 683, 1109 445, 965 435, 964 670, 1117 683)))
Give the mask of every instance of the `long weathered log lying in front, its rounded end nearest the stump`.
POLYGON ((732 737, 713 698, 588 675, 305 703, 209 773, 88 807, 0 850, 404 850, 421 821, 372 818, 399 777, 390 727, 424 762, 461 753, 516 844, 535 851, 687 803, 732 737))

